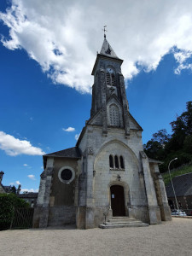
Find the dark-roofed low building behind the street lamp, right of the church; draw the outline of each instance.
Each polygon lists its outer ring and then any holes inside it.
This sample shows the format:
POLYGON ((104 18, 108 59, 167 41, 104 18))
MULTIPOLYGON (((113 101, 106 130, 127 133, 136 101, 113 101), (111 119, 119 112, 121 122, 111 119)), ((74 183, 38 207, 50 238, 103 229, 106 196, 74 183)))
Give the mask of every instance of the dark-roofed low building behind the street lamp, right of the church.
MULTIPOLYGON (((177 196, 178 207, 188 215, 192 215, 192 172, 173 177, 172 183, 177 196)), ((166 186, 166 195, 171 209, 177 209, 172 183, 170 182, 166 186)))

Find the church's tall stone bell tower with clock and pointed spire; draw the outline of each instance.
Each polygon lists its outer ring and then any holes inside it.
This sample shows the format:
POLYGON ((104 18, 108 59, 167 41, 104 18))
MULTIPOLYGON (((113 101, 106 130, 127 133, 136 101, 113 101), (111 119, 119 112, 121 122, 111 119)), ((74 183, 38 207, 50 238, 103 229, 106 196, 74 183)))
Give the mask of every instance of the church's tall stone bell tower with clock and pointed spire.
POLYGON ((94 84, 90 110, 90 119, 94 119, 98 114, 101 116, 103 135, 108 133, 108 127, 124 128, 125 137, 130 135, 129 106, 124 76, 121 73, 122 63, 123 60, 115 54, 104 35, 102 49, 96 56, 91 73, 94 76, 94 84))

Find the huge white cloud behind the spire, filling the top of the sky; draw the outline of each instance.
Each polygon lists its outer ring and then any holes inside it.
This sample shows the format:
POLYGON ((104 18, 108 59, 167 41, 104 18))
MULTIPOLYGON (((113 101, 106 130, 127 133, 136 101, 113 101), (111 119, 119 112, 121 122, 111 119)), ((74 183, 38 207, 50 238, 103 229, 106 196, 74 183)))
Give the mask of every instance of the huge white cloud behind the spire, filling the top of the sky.
MULTIPOLYGON (((90 92, 103 25, 114 51, 125 59, 125 78, 131 79, 139 73, 136 63, 149 71, 173 46, 192 50, 191 9, 191 0, 12 0, 0 15, 10 29, 2 42, 8 49, 26 49, 55 84, 90 92)), ((191 68, 180 61, 176 73, 191 68)))

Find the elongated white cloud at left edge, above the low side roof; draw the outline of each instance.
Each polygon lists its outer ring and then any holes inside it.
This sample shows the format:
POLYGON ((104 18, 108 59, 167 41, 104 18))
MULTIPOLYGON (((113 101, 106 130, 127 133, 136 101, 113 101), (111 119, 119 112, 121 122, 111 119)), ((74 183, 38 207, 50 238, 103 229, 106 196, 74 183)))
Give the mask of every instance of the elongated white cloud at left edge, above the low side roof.
POLYGON ((15 156, 18 154, 45 154, 41 148, 33 147, 30 142, 15 138, 12 135, 6 134, 3 131, 0 131, 0 149, 4 150, 6 154, 11 156, 15 156))

